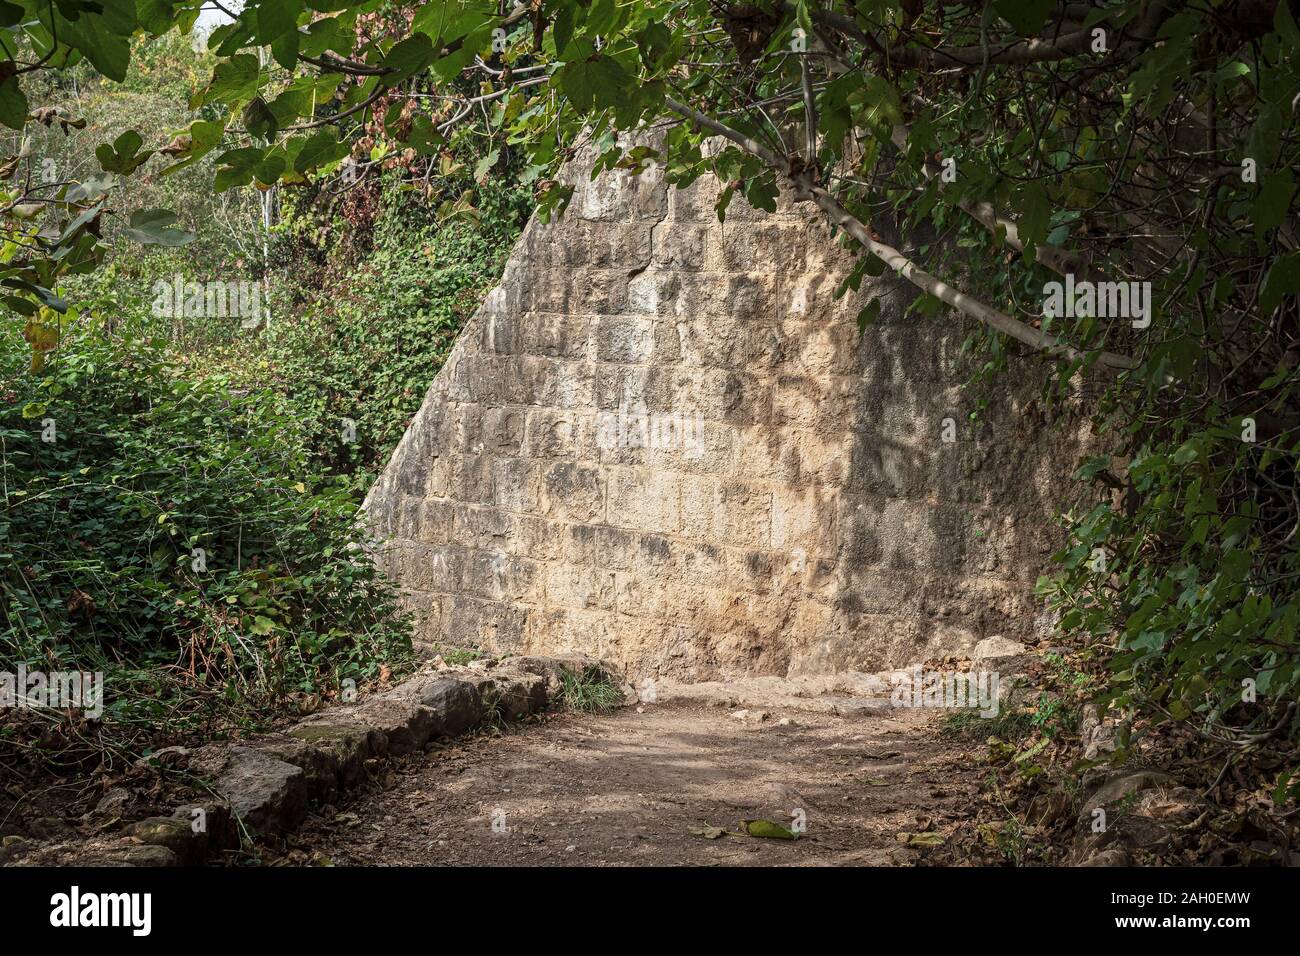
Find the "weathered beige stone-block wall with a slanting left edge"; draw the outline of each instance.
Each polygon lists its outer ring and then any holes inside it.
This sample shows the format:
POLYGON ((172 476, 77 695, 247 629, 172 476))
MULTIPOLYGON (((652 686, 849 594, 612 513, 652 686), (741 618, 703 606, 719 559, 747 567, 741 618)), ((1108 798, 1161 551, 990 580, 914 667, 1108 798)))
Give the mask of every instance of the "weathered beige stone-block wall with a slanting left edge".
POLYGON ((701 680, 1030 632, 1078 458, 1036 389, 972 421, 968 329, 889 276, 836 300, 849 259, 806 207, 719 224, 715 182, 589 164, 367 501, 419 639, 701 680))

